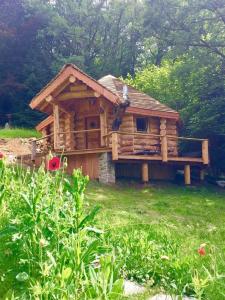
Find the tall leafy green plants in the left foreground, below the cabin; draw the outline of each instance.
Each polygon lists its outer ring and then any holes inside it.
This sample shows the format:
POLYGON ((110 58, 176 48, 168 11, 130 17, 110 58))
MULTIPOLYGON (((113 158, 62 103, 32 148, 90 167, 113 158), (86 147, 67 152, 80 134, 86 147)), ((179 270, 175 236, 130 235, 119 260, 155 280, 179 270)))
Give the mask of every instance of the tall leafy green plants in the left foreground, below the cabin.
POLYGON ((70 179, 60 171, 31 173, 0 163, 1 242, 13 261, 1 276, 12 278, 7 297, 119 299, 123 281, 94 226, 98 208, 83 211, 88 178, 80 170, 70 179))

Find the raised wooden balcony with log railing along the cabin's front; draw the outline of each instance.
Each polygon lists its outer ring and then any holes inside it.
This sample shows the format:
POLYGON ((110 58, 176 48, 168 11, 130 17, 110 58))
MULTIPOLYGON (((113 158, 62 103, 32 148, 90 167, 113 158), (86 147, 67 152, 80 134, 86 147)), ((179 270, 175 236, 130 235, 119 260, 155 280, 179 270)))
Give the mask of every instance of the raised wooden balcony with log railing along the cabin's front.
POLYGON ((51 134, 37 139, 33 142, 32 159, 37 154, 37 144, 41 142, 43 144, 43 153, 47 153, 49 150, 65 155, 112 152, 112 160, 115 162, 159 161, 164 163, 209 164, 208 140, 206 139, 114 131, 104 135, 103 139, 99 140, 99 144, 93 144, 93 147, 89 147, 89 144, 76 145, 74 143, 76 136, 86 137, 88 134, 96 137, 96 133, 101 133, 101 130, 59 132, 57 136, 51 134), (122 147, 122 140, 126 137, 129 137, 130 141, 129 151, 124 151, 122 147), (144 142, 141 146, 139 143, 137 151, 140 138, 144 142), (154 143, 151 143, 151 141, 154 141, 154 143), (173 146, 170 146, 171 141, 173 141, 173 146), (197 143, 200 148, 198 155, 188 156, 178 153, 179 142, 197 143), (151 144, 150 148, 149 143, 151 144))

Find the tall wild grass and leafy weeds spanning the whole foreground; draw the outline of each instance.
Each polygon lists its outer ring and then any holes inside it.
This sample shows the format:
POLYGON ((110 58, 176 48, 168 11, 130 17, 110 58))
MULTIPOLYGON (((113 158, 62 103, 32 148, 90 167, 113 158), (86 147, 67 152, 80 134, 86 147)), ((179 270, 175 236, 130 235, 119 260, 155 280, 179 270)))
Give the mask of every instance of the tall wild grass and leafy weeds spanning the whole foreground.
POLYGON ((219 248, 208 242, 200 256, 197 240, 186 249, 185 231, 175 234, 166 221, 105 225, 107 211, 87 205, 87 183, 80 170, 67 177, 0 160, 0 299, 124 299, 123 279, 180 297, 225 299, 219 248))

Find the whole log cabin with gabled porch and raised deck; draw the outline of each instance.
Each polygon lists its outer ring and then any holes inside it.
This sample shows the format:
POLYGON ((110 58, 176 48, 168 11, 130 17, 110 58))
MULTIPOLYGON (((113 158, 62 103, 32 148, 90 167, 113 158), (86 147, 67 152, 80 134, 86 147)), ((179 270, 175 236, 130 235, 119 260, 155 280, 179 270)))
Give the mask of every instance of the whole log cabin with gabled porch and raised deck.
POLYGON ((32 159, 48 151, 67 157, 67 171, 82 168, 91 179, 114 183, 117 178, 173 179, 183 170, 204 177, 209 164, 208 140, 178 136, 179 113, 120 79, 98 81, 72 64, 65 65, 31 101, 47 118, 36 127, 32 159), (36 144, 42 141, 42 153, 36 144), (184 155, 182 143, 197 143, 198 155, 184 155))

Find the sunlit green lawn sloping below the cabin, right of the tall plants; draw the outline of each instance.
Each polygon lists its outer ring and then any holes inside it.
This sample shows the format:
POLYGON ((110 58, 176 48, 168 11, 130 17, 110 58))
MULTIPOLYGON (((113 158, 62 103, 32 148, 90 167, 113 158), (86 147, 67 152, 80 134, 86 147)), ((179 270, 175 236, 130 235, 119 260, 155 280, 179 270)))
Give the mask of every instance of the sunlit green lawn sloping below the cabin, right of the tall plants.
POLYGON ((201 299, 225 299, 224 191, 90 183, 87 197, 102 207, 99 226, 120 249, 126 277, 147 286, 152 277, 154 288, 163 285, 173 294, 192 281, 201 299), (203 243, 206 256, 200 257, 197 249, 203 243))

